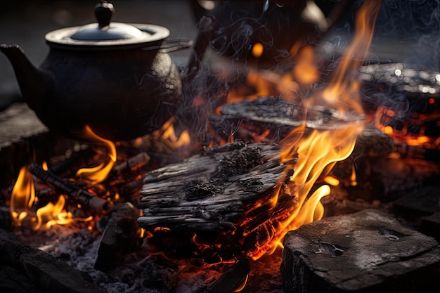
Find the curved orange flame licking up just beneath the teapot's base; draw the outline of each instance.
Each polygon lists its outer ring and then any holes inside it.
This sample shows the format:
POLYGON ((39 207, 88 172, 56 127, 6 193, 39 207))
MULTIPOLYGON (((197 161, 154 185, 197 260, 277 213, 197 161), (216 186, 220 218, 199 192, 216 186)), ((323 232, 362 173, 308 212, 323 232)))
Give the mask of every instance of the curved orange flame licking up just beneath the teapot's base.
POLYGON ((99 141, 104 143, 108 147, 108 157, 110 161, 101 163, 96 167, 82 168, 77 171, 77 177, 84 178, 86 181, 90 181, 92 184, 101 183, 107 178, 108 174, 112 170, 113 165, 116 162, 116 147, 115 143, 108 141, 107 139, 97 136, 89 126, 86 126, 85 133, 93 141, 99 141))

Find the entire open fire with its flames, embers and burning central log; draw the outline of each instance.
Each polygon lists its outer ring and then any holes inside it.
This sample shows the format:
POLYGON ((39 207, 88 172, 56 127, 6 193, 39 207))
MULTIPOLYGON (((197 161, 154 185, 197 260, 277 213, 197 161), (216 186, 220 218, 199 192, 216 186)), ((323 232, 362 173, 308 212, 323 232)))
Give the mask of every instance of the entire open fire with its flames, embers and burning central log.
MULTIPOLYGON (((296 44, 290 52, 297 58, 290 72, 250 70, 247 84, 257 88, 257 93, 228 91, 227 104, 280 96, 283 103, 295 105, 296 112, 290 113, 289 119, 296 119, 296 125, 279 139, 269 136, 270 129, 252 133, 245 122, 227 129, 231 133, 226 140, 210 134, 214 139, 203 149, 190 131, 176 135, 174 125, 178 122, 174 118, 152 135, 129 143, 113 143, 87 127, 84 133, 93 152, 86 154, 86 159, 71 162, 60 171, 53 171, 57 164, 22 167, 9 202, 13 226, 44 230, 85 223, 96 233, 106 214, 131 203, 138 207, 135 214, 138 211, 137 223, 142 229, 136 226, 134 235, 143 240, 146 257, 160 254, 173 268, 176 265, 183 271, 188 266, 217 265, 226 271, 243 259, 257 261, 276 252, 289 231, 323 218, 321 199, 332 193, 329 185, 348 180, 356 186, 354 164, 346 170, 348 179, 332 171, 337 162, 352 155, 365 124, 373 121, 396 142, 439 148, 439 138, 427 137, 423 130, 408 135, 405 129, 390 126, 396 115, 392 109, 381 107, 373 117, 365 117, 358 70, 373 38, 380 5, 380 0, 365 1, 358 9, 354 38, 325 82, 313 48, 296 44), (251 132, 246 143, 240 142, 243 131, 251 132), (159 155, 133 152, 145 143, 159 155), (173 157, 173 153, 179 156, 173 157), (188 159, 179 162, 182 156, 188 159), (242 195, 246 191, 252 195, 242 195)), ((254 57, 261 56, 261 50, 264 48, 254 46, 254 57)), ((197 100, 194 105, 199 105, 197 100)), ((216 110, 217 115, 224 107, 226 104, 216 110)), ((432 117, 435 115, 438 113, 432 117)), ((261 125, 264 128, 264 123, 261 125)), ((244 282, 229 292, 245 287, 247 277, 239 279, 235 281, 244 282)), ((211 287, 215 292, 213 288, 215 284, 211 287)))

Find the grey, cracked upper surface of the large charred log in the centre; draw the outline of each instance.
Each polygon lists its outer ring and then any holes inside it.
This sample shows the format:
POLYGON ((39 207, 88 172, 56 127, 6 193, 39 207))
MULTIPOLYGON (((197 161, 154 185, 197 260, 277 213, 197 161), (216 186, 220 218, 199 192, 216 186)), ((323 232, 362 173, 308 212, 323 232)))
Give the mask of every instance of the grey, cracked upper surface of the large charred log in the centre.
POLYGON ((141 190, 139 225, 233 229, 243 204, 271 193, 282 176, 278 152, 274 145, 236 143, 150 172, 141 190), (240 171, 246 163, 253 165, 240 171))

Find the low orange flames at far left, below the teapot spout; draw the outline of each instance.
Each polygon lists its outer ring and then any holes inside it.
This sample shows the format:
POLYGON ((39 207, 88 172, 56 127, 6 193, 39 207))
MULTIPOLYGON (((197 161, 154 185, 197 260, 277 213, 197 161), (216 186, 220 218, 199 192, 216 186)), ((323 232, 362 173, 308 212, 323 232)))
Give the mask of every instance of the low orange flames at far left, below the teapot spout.
POLYGON ((36 200, 34 178, 27 171, 27 167, 22 167, 11 193, 10 212, 13 226, 25 226, 38 230, 42 226, 50 228, 55 224, 72 223, 72 214, 64 210, 63 195, 58 197, 56 204, 49 202, 46 206, 34 211, 32 206, 36 200))

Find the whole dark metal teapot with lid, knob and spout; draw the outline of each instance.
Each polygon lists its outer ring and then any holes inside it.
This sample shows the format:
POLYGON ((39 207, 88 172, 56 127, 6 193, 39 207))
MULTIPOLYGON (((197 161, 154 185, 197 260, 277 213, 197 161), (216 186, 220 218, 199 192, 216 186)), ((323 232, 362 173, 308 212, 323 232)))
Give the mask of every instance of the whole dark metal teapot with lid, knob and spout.
POLYGON ((95 8, 98 23, 46 34, 50 51, 39 68, 18 45, 0 45, 22 96, 52 131, 84 138, 84 127, 122 141, 150 134, 174 113, 179 70, 157 25, 111 22, 112 4, 95 8))

